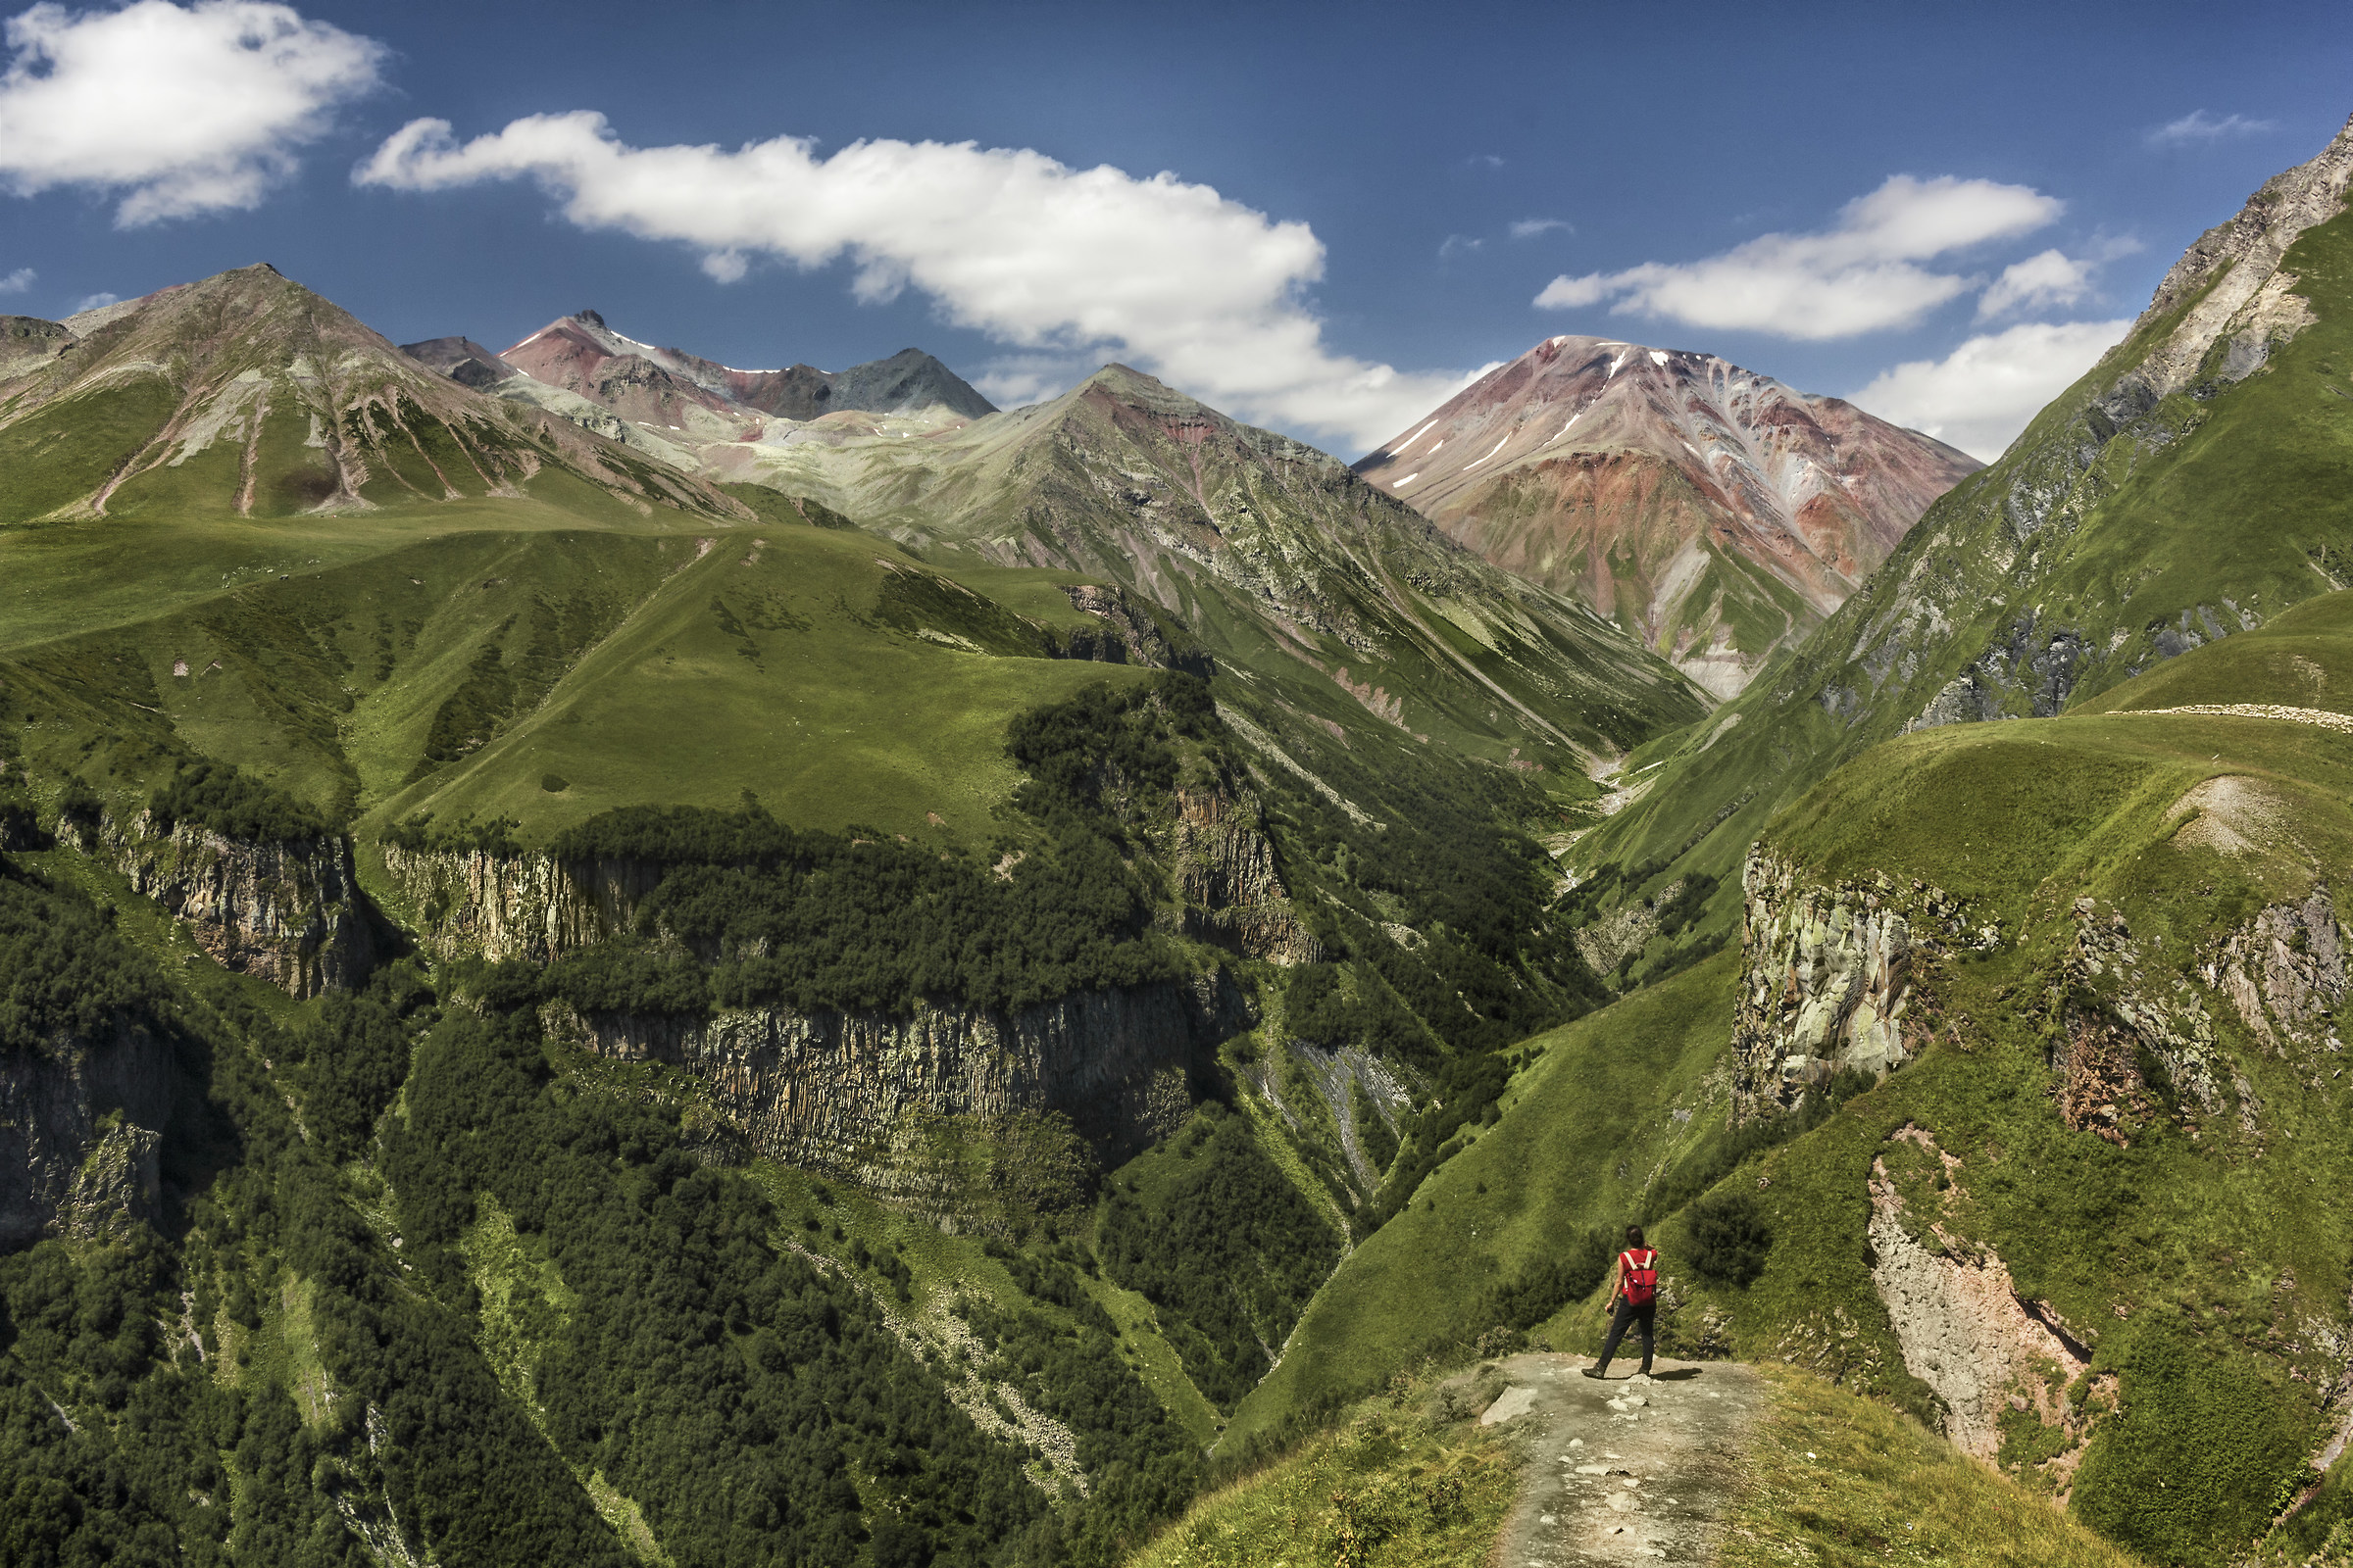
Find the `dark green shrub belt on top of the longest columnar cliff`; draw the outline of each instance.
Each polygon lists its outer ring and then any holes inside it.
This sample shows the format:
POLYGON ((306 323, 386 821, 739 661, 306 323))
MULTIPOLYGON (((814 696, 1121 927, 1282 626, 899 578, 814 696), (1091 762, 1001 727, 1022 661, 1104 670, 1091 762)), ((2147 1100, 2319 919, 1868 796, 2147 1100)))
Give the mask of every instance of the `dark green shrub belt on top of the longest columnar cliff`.
POLYGON ((569 954, 551 990, 588 1013, 713 1004, 908 1013, 920 999, 1021 1009, 1080 990, 1174 978, 1153 931, 1160 889, 1132 863, 1127 820, 1165 818, 1176 741, 1214 726, 1188 675, 1082 689, 1021 717, 1009 752, 1035 830, 1002 872, 880 830, 793 830, 736 811, 631 806, 548 844, 560 863, 661 867, 638 943, 569 954), (1118 802, 1106 799, 1118 792, 1118 802), (685 947, 656 950, 654 933, 685 947), (692 957, 689 957, 692 954, 692 957))

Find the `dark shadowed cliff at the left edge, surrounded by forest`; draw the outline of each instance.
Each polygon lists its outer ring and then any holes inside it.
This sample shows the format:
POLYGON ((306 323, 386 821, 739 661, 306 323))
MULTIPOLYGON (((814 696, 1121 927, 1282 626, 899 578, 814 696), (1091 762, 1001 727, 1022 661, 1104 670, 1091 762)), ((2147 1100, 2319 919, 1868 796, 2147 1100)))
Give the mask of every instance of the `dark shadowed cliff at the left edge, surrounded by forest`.
POLYGON ((0 1251, 155 1211, 169 1048, 139 1025, 0 1051, 0 1251))

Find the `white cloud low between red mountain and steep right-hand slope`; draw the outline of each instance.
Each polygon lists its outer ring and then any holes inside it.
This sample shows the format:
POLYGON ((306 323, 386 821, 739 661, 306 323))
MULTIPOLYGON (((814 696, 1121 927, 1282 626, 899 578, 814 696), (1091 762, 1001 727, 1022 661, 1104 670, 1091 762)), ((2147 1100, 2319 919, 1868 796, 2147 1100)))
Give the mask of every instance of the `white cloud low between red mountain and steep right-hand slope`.
POLYGON ((1852 400, 1991 463, 2129 329, 2129 320, 2021 322, 1974 336, 1944 360, 1880 371, 1852 400))

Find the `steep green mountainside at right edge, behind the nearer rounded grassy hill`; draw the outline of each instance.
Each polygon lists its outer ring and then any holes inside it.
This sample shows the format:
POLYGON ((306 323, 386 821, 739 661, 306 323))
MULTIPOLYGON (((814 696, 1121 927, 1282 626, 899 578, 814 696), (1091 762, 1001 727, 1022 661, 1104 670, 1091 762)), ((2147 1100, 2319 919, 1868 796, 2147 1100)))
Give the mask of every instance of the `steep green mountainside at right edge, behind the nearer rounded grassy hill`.
MULTIPOLYGON (((2240 381, 2214 367, 2141 407, 2129 376, 2195 301, 2144 320, 2009 451, 1937 501, 1802 646, 1680 743, 1652 790, 1586 837, 1626 893, 1722 882, 1685 945, 1737 917, 1732 872, 1765 823, 1944 696, 1953 717, 2097 703, 2169 654, 2242 635, 2346 581, 2353 552, 2353 214, 2287 252, 2313 324, 2240 381)), ((2217 362, 2224 346, 2214 348, 2217 362)), ((1642 973, 1673 961, 1657 950, 1642 973)))

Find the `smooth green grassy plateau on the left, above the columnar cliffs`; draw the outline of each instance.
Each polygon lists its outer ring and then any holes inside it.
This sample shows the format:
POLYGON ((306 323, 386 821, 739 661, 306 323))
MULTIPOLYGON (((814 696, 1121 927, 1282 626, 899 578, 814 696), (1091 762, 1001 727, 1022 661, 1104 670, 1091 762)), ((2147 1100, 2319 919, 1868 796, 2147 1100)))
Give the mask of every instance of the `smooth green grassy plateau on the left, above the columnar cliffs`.
POLYGON ((454 522, 395 515, 299 541, 242 520, 78 524, 71 548, 61 529, 0 536, 28 602, 0 616, 7 686, 66 722, 28 750, 141 785, 160 748, 188 745, 344 811, 506 813, 532 835, 741 790, 807 825, 913 832, 936 813, 984 835, 1014 783, 1005 719, 1144 675, 958 646, 988 604, 892 602, 939 576, 854 531, 581 529, 532 503, 454 522), (108 559, 134 562, 132 581, 108 581, 108 559), (42 635, 68 616, 78 632, 42 635), (85 752, 108 733, 104 757, 85 752), (544 790, 551 773, 567 788, 544 790))

